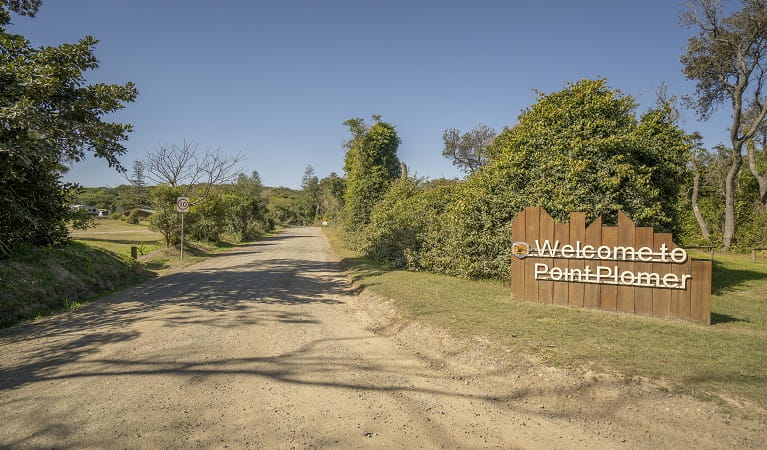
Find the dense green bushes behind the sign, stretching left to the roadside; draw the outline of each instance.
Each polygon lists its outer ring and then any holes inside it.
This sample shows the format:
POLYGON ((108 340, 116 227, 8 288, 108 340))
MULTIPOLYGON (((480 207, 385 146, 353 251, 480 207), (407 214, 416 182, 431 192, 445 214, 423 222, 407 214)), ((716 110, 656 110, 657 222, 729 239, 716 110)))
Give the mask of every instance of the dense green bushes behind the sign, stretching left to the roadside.
POLYGON ((492 160, 464 182, 419 191, 392 186, 366 227, 366 253, 387 264, 469 278, 508 278, 510 224, 526 206, 554 218, 583 211, 677 231, 678 180, 688 139, 603 80, 569 84, 519 117, 490 146, 492 160))

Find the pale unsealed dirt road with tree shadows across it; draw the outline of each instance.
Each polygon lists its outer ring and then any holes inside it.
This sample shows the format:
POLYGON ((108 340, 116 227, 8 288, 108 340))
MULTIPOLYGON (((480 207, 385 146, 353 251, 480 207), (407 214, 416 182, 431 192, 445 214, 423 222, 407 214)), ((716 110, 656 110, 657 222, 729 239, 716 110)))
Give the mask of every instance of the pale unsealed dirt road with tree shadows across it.
POLYGON ((5 331, 0 447, 650 446, 451 376, 359 302, 321 231, 292 228, 5 331))

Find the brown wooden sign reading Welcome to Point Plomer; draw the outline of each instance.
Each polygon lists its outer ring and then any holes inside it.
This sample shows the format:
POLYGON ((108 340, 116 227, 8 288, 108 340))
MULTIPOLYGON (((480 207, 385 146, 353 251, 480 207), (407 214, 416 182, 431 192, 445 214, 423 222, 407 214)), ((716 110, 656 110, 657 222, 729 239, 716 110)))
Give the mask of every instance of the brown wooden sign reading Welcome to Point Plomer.
POLYGON ((539 206, 512 221, 511 286, 517 300, 711 323, 711 261, 693 261, 670 233, 618 226, 584 213, 555 223, 539 206))

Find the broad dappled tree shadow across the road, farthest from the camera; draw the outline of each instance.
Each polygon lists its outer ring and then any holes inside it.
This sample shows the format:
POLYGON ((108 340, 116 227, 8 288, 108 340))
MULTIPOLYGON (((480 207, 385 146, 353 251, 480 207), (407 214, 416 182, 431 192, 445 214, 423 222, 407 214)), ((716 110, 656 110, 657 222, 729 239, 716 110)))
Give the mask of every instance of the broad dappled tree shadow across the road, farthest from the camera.
MULTIPOLYGON (((294 237, 278 235, 267 244, 294 237)), ((133 324, 141 320, 161 321, 167 327, 313 325, 319 322, 312 315, 284 306, 332 306, 341 303, 336 298, 348 292, 338 263, 263 260, 258 245, 242 253, 252 257, 238 258, 246 261, 240 265, 168 275, 76 311, 0 331, 0 353, 11 345, 29 348, 22 361, 0 360, 0 390, 50 379, 62 366, 97 353, 104 344, 136 339, 140 333, 132 329, 133 324)), ((214 265, 227 263, 218 258, 211 261, 214 265)))

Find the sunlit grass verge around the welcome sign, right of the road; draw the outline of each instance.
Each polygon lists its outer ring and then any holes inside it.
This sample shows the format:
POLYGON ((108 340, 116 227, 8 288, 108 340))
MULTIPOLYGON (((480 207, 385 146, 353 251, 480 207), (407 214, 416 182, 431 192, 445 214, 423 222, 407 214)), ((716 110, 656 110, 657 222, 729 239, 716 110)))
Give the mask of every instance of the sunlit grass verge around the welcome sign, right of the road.
POLYGON ((405 319, 484 336, 558 367, 647 377, 674 391, 767 407, 767 259, 716 255, 707 326, 511 301, 507 283, 387 270, 326 234, 355 283, 394 300, 405 319))

